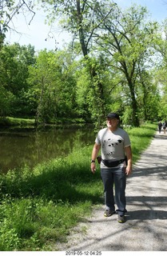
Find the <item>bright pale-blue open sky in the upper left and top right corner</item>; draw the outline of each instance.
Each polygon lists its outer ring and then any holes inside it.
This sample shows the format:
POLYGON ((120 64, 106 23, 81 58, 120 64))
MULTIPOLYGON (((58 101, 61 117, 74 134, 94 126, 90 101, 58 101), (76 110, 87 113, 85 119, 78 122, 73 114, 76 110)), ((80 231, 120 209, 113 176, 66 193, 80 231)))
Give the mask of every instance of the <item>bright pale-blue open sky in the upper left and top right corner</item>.
MULTIPOLYGON (((136 3, 137 5, 146 6, 151 18, 154 21, 162 22, 167 18, 167 0, 115 0, 122 9, 136 3)), ((60 27, 50 33, 50 26, 45 24, 46 14, 42 10, 36 10, 36 14, 30 22, 30 15, 23 17, 19 14, 14 18, 14 29, 19 33, 10 30, 6 34, 6 42, 10 44, 18 42, 20 46, 32 45, 35 50, 55 50, 62 48, 66 42, 70 42, 70 35, 62 32, 60 27), (30 22, 30 25, 28 24, 30 22), (50 35, 50 38, 48 38, 50 35)))

